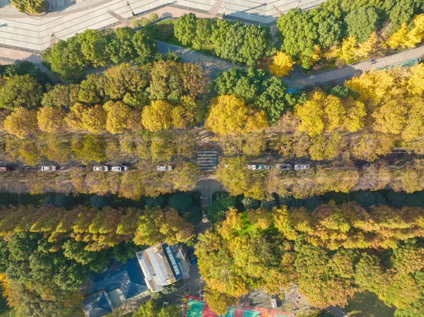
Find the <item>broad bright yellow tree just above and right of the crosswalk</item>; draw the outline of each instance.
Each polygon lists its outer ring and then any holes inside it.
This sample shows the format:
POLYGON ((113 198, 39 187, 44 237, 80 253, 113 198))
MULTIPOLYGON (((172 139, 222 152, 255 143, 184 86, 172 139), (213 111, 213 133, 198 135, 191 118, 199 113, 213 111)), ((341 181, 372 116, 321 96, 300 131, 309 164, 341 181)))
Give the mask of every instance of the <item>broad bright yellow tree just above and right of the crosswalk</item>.
POLYGON ((220 136, 235 136, 259 131, 268 126, 264 111, 257 112, 246 106, 245 100, 234 95, 213 98, 205 128, 220 136))

